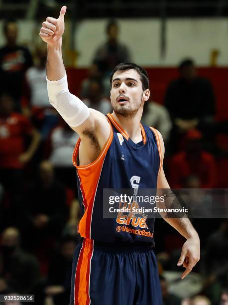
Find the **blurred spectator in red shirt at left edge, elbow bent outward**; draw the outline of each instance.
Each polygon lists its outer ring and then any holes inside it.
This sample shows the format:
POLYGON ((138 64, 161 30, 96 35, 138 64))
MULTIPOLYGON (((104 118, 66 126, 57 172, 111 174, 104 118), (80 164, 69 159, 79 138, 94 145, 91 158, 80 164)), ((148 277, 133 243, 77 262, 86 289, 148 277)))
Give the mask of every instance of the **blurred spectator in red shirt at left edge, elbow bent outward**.
MULTIPOLYGON (((16 209, 15 213, 19 208, 16 205, 21 195, 24 164, 31 160, 39 141, 39 134, 30 121, 23 115, 13 112, 12 98, 2 94, 0 96, 0 183, 10 194, 11 203, 16 209), (26 149, 25 142, 28 137, 31 141, 26 149)), ((12 221, 11 215, 9 219, 12 221)))

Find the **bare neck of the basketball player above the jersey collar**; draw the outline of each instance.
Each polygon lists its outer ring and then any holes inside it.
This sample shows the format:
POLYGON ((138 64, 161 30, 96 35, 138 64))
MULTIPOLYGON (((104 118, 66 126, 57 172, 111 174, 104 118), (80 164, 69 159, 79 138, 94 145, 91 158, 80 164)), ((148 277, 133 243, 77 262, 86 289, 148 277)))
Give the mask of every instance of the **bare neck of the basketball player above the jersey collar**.
POLYGON ((128 137, 135 143, 142 141, 140 121, 142 117, 142 110, 140 108, 133 118, 123 117, 113 111, 115 121, 127 133, 128 137))

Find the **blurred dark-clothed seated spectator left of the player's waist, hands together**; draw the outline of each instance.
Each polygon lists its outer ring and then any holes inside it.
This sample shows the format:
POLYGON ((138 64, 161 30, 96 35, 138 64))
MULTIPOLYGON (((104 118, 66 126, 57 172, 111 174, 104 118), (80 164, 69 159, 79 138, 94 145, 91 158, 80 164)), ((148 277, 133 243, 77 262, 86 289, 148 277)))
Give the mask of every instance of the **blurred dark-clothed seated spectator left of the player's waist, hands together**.
MULTIPOLYGON (((44 160, 39 164, 39 177, 26 191, 24 201, 24 210, 27 211, 24 233, 27 246, 38 255, 47 245, 50 251, 63 229, 68 211, 65 188, 56 181, 49 161, 44 160)), ((45 255, 49 254, 47 249, 45 255)))

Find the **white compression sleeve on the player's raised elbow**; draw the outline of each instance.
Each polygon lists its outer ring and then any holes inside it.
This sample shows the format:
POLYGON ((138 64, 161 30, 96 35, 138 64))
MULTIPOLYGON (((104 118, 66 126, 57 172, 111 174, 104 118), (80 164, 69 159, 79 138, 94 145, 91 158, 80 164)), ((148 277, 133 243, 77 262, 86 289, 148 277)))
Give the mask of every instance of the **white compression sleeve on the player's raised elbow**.
POLYGON ((47 91, 50 104, 72 127, 84 123, 90 115, 89 108, 68 89, 67 75, 57 81, 47 79, 47 91))

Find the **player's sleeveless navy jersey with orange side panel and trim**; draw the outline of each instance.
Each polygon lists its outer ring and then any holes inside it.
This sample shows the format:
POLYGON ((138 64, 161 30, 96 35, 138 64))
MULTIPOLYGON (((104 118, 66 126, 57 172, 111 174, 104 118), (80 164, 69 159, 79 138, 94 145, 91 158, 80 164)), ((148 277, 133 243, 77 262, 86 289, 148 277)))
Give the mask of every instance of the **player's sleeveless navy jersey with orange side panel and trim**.
POLYGON ((107 115, 111 126, 109 139, 99 157, 91 164, 79 166, 80 139, 74 153, 82 218, 78 225, 81 237, 100 242, 153 242, 154 219, 135 215, 134 223, 103 217, 103 189, 157 188, 162 166, 159 136, 155 129, 141 126, 143 140, 135 144, 107 115), (118 230, 120 227, 121 230, 118 230))

